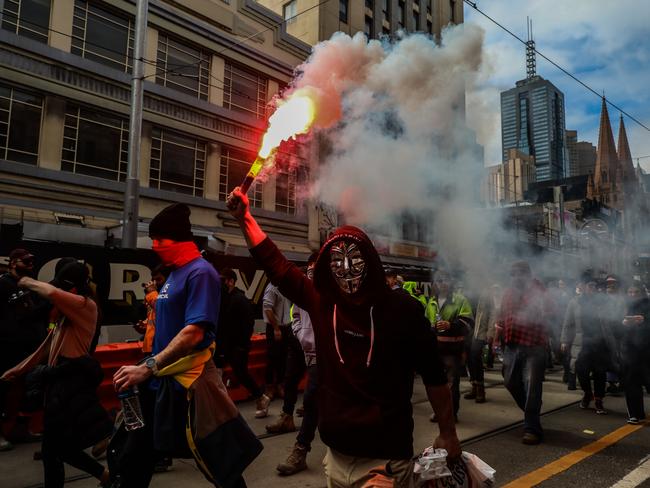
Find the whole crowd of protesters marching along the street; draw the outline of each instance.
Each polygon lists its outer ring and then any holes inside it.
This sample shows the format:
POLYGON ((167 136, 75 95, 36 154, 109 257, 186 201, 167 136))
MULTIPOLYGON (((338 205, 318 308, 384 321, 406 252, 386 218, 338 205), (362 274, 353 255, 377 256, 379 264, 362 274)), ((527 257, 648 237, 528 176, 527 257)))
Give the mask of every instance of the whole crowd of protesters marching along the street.
POLYGON ((48 488, 63 486, 64 463, 101 486, 146 487, 173 457, 193 458, 215 486, 245 487, 242 474, 262 445, 228 395, 223 370, 229 365, 256 402, 256 418, 267 417, 271 401, 282 398, 267 432, 293 432, 294 416, 303 417, 278 473, 307 468, 318 430, 327 446, 328 486, 389 481, 408 487, 416 375, 438 426, 432 444, 454 460, 460 455, 461 376, 471 384, 466 400, 488 401, 485 369, 497 351, 504 385, 523 413, 524 444, 543 441, 543 384, 554 365, 569 389, 582 389, 580 408, 593 402, 596 414, 607 414, 606 394, 620 391, 627 421, 645 419, 650 298, 640 282, 625 289, 617 276, 586 272, 569 291, 569 281, 544 285, 518 261, 509 265, 508 279, 486 284, 475 297, 464 295, 451 270, 439 269, 427 296, 416 282, 385 269, 356 227, 336 230, 299 268, 259 227, 244 194, 235 190, 228 208, 270 279, 262 308, 265 384, 248 369, 255 313, 237 287, 239 277, 203 259, 189 208, 175 204, 149 226, 161 264, 143 285, 146 317, 135 326, 143 359, 113 377, 117 392, 135 392, 140 428, 127 429, 119 419, 113 424, 99 404, 102 372, 93 351, 100 312, 86 265, 64 258, 45 283, 31 277, 28 251, 10 254, 0 276, 0 410, 6 410, 11 381, 23 378, 37 387, 21 399, 13 431, 0 429, 0 451, 12 449, 12 441, 39 439, 29 432, 29 412, 44 408, 40 456, 48 488), (84 451, 109 436, 110 470, 84 451))

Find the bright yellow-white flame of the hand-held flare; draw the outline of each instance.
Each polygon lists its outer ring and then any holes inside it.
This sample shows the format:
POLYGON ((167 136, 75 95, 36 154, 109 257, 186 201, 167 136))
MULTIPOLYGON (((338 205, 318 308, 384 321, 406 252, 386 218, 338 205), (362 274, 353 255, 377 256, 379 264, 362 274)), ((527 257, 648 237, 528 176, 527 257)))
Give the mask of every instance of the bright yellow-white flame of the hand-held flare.
POLYGON ((306 134, 315 118, 316 104, 305 90, 298 90, 288 100, 278 102, 278 108, 269 118, 259 156, 266 159, 282 141, 306 134))

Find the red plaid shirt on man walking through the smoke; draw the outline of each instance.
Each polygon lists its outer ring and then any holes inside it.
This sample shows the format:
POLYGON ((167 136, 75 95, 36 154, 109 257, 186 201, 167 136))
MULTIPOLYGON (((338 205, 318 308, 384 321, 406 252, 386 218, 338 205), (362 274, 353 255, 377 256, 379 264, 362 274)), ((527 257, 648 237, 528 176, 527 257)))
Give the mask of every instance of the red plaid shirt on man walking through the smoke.
POLYGON ((546 346, 546 315, 550 311, 546 291, 536 280, 523 291, 506 289, 501 301, 499 325, 504 344, 546 346))

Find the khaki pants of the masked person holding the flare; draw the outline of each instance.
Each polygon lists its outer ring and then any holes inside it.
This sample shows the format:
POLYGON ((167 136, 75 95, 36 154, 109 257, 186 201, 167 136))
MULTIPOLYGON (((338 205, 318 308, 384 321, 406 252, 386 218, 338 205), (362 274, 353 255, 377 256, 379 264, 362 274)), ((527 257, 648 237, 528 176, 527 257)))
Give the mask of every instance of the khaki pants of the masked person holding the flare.
POLYGON ((370 459, 346 456, 327 448, 323 459, 327 488, 413 488, 410 459, 370 459))

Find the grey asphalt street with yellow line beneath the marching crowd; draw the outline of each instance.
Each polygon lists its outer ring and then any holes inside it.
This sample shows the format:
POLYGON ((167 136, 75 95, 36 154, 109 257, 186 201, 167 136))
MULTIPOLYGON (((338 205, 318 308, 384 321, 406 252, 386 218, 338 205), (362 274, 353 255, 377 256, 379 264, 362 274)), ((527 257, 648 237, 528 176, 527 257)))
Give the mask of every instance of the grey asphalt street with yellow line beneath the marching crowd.
MULTIPOLYGON (((500 374, 487 374, 488 402, 482 405, 461 400, 458 433, 465 451, 477 454, 496 469, 496 486, 508 487, 611 487, 650 486, 650 430, 645 426, 628 426, 622 397, 607 397, 609 415, 599 416, 593 410, 580 410, 580 392, 569 392, 560 382, 560 373, 547 376, 544 384, 544 415, 542 423, 545 442, 538 446, 521 444, 521 415, 508 392, 500 383, 500 374), (618 483, 618 484, 617 484, 618 483)), ((469 384, 463 380, 462 389, 469 384)), ((646 400, 647 401, 647 400, 646 400)), ((421 384, 413 396, 415 416, 415 447, 429 445, 436 433, 429 422, 430 407, 421 384)), ((264 425, 272 420, 253 418, 254 405, 240 405, 251 427, 261 435, 264 451, 246 471, 249 487, 323 488, 325 478, 320 461, 325 448, 315 442, 308 457, 309 469, 291 477, 276 475, 275 466, 288 455, 294 434, 268 436, 264 425)), ((272 403, 272 414, 281 404, 272 403)), ((40 462, 32 460, 37 444, 20 445, 2 453, 0 479, 4 488, 36 488, 42 483, 40 462)), ((66 467, 69 486, 91 488, 96 481, 66 467)), ((156 474, 152 487, 211 486, 191 460, 176 460, 173 468, 156 474)), ((68 485, 66 485, 68 486, 68 485)))

